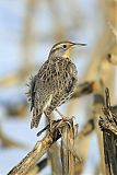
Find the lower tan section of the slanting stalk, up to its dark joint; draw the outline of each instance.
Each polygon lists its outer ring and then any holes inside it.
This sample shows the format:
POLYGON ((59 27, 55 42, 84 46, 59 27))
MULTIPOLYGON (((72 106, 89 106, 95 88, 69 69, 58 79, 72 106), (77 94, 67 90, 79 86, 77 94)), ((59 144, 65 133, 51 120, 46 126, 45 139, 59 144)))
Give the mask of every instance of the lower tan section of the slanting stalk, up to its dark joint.
POLYGON ((52 143, 54 139, 48 133, 42 141, 38 141, 35 144, 34 149, 16 166, 14 166, 8 175, 26 175, 52 143))

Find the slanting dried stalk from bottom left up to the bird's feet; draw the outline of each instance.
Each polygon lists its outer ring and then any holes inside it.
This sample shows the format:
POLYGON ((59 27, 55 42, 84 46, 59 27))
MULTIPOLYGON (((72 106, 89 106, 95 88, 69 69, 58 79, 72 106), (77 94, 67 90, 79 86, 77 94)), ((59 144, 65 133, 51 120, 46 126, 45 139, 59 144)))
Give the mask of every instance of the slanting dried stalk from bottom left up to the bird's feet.
POLYGON ((16 165, 8 175, 26 175, 32 170, 37 161, 47 152, 47 150, 56 142, 60 137, 60 131, 69 120, 57 120, 52 122, 52 128, 43 140, 37 141, 33 150, 16 165))

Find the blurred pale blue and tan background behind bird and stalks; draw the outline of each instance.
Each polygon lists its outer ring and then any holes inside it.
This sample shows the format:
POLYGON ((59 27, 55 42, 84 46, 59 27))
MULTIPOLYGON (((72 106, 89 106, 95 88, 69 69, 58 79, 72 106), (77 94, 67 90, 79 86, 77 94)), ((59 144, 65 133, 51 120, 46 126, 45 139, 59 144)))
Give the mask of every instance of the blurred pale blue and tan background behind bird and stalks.
MULTIPOLYGON (((116 16, 116 0, 0 0, 0 175, 5 175, 42 138, 36 133, 45 126, 45 116, 38 129, 31 130, 26 83, 55 43, 87 44, 75 49, 72 59, 79 83, 94 81, 93 93, 60 107, 62 114, 75 116, 79 131, 89 119, 100 117, 100 112, 94 114, 94 95, 103 94, 105 86, 116 103, 116 70, 110 62, 117 56, 116 16)), ((79 174, 103 174, 98 145, 98 131, 94 129, 79 144, 84 161, 79 174)), ((51 174, 50 164, 39 174, 47 175, 47 171, 51 174)))

